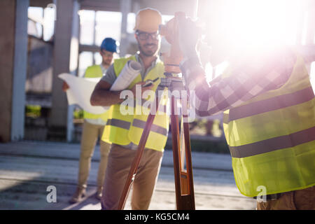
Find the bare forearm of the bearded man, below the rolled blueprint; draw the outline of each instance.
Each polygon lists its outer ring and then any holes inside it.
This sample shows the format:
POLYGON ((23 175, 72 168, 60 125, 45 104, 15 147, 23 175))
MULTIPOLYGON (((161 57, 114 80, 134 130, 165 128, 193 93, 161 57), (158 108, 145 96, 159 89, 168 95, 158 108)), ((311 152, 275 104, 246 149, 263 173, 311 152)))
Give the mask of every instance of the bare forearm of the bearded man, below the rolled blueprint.
POLYGON ((125 99, 120 99, 121 91, 94 90, 90 102, 92 106, 111 106, 120 104, 125 99))

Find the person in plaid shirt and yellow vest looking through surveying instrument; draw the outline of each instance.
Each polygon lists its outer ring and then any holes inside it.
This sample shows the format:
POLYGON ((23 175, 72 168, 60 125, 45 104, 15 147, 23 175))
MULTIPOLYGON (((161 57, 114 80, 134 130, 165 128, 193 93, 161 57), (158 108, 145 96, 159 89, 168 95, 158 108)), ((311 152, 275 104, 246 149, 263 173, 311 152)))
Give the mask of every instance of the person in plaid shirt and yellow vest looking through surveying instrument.
POLYGON ((184 19, 181 71, 199 116, 224 111, 237 187, 258 197, 257 209, 315 209, 314 92, 302 57, 267 45, 235 57, 223 34, 211 31, 211 64, 227 59, 229 68, 208 85, 195 50, 198 28, 184 19))

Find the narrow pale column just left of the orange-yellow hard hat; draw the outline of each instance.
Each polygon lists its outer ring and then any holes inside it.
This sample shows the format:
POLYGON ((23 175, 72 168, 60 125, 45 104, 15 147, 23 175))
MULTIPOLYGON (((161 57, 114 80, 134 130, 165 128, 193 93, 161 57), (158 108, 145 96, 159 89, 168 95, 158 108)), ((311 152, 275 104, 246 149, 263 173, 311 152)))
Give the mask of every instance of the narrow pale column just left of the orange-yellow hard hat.
POLYGON ((120 0, 120 12, 122 13, 121 19, 121 36, 120 36, 120 57, 127 54, 129 47, 128 34, 127 34, 127 15, 131 13, 131 0, 120 0))

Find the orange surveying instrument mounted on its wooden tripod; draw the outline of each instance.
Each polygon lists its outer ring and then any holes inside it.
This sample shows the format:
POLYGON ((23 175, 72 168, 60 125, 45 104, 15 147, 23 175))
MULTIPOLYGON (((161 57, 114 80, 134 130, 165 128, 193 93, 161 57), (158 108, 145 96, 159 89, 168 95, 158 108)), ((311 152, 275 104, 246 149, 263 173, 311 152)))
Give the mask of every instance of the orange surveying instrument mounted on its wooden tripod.
MULTIPOLYGON (((165 78, 161 78, 161 83, 158 85, 158 90, 165 90, 168 88, 171 92, 173 90, 186 90, 183 85, 183 79, 176 76, 181 73, 179 69, 179 63, 183 58, 178 43, 178 22, 181 19, 185 19, 186 14, 183 12, 175 13, 175 17, 167 22, 167 25, 160 25, 160 34, 165 36, 167 41, 171 44, 171 50, 169 53, 163 53, 163 59, 165 64, 165 78)), ((187 98, 186 98, 187 99, 187 98)), ((191 161, 191 148, 189 137, 189 124, 188 124, 188 101, 183 102, 181 97, 171 96, 171 130, 172 130, 172 148, 173 148, 173 160, 174 160, 174 180, 175 180, 175 192, 176 192, 176 209, 178 210, 195 210, 195 193, 193 185, 193 167, 191 161), (181 100, 182 108, 182 127, 181 137, 179 134, 179 115, 177 113, 178 103, 181 100), (186 122, 183 122, 186 120, 186 122), (181 141, 182 139, 182 141, 181 141), (185 157, 185 158, 184 158, 185 157), (185 160, 183 160, 185 159, 185 160), (186 163, 185 163, 186 162, 186 163), (185 169, 186 165, 186 169, 185 169)), ((118 209, 122 210, 125 207, 127 195, 130 191, 132 182, 137 175, 137 169, 141 156, 146 146, 146 141, 153 125, 155 114, 158 110, 159 99, 158 94, 155 94, 155 111, 151 111, 146 120, 144 132, 141 135, 137 153, 132 162, 132 167, 127 176, 127 181, 123 188, 123 193, 120 197, 118 209), (152 113, 155 112, 155 113, 152 113)))

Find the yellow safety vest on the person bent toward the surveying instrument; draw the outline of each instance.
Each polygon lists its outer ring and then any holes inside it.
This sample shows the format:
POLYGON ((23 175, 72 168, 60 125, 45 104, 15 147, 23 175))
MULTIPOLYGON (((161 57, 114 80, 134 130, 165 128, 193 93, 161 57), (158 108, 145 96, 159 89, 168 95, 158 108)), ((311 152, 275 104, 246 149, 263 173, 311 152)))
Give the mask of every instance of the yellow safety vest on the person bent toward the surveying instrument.
POLYGON ((314 186, 314 106, 309 75, 298 56, 290 78, 279 89, 224 111, 235 182, 243 195, 314 186))

